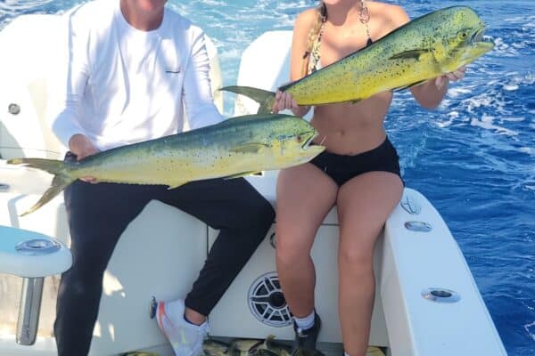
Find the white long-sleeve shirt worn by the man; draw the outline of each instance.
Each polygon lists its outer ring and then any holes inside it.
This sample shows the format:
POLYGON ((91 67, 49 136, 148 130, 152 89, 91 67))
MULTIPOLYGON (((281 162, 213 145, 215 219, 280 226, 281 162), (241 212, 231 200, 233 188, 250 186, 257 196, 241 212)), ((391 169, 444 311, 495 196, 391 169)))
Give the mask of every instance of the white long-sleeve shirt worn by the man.
POLYGON ((99 150, 177 134, 184 108, 192 129, 223 120, 203 32, 189 20, 166 8, 160 28, 141 31, 125 20, 119 0, 95 0, 65 17, 69 65, 52 127, 66 147, 74 134, 99 150))

